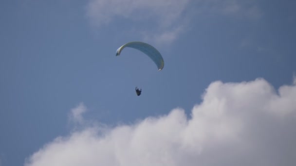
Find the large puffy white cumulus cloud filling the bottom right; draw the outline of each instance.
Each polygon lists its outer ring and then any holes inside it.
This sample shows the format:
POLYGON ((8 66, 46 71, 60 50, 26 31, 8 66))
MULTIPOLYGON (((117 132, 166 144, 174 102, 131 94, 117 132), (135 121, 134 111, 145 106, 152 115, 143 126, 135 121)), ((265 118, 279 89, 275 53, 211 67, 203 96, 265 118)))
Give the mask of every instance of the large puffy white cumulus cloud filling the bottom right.
POLYGON ((296 84, 211 83, 188 117, 176 108, 58 137, 25 166, 295 166, 296 84))

